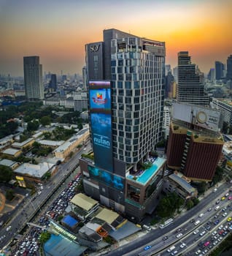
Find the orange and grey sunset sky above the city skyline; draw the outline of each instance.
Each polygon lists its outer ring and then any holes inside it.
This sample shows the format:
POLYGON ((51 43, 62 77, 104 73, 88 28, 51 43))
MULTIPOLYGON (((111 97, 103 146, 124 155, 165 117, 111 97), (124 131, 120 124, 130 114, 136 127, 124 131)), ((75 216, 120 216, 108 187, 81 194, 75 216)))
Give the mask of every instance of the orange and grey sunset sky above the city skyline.
POLYGON ((231 0, 0 0, 0 74, 22 75, 23 56, 43 72, 74 74, 85 44, 119 29, 166 42, 166 64, 188 50, 203 72, 232 54, 231 0))

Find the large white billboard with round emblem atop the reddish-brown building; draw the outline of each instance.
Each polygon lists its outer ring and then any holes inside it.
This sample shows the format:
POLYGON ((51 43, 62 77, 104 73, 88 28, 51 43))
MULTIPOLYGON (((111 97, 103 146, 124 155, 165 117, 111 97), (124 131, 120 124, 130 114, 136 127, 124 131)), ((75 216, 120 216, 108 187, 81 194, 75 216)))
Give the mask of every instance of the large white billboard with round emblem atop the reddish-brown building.
POLYGON ((220 111, 181 103, 173 103, 172 118, 218 132, 220 111))

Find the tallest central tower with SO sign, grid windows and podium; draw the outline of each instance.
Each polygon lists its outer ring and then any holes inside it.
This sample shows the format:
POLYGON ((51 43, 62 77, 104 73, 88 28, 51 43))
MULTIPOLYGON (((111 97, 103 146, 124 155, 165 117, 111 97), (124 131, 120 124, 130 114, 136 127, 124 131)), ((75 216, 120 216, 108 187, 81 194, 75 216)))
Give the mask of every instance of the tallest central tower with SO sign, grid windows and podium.
POLYGON ((158 203, 166 162, 138 176, 162 136, 165 43, 107 29, 85 52, 94 155, 80 159, 85 193, 141 219, 158 203))

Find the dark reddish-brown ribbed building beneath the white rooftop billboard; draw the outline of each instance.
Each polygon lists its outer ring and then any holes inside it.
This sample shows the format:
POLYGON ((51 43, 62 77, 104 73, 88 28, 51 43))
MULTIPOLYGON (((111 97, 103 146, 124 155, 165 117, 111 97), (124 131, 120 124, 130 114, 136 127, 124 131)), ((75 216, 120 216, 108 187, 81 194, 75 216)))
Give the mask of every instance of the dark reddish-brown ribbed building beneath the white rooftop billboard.
POLYGON ((193 181, 212 181, 222 154, 224 141, 217 136, 171 124, 167 164, 193 181))

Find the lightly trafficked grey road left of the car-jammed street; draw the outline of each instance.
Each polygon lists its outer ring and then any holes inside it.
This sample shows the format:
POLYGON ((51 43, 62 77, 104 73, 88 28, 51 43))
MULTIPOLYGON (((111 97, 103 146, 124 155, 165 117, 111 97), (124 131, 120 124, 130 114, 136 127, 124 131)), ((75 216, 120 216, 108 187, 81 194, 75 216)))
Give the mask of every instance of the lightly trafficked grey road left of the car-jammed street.
MULTIPOLYGON (((90 150, 90 143, 85 147, 85 150, 90 150)), ((71 173, 79 165, 79 158, 81 154, 85 152, 84 149, 74 153, 74 155, 69 159, 68 162, 64 162, 58 165, 58 171, 55 175, 50 178, 50 181, 43 184, 44 189, 40 195, 28 196, 25 203, 18 206, 17 211, 12 214, 12 218, 9 219, 6 225, 0 230, 0 248, 9 244, 12 238, 18 235, 24 227, 26 227, 27 222, 30 222, 36 214, 41 210, 41 207, 45 205, 47 200, 50 199, 55 193, 58 192, 59 188, 66 182, 71 173), (7 227, 11 226, 10 230, 7 227)))

